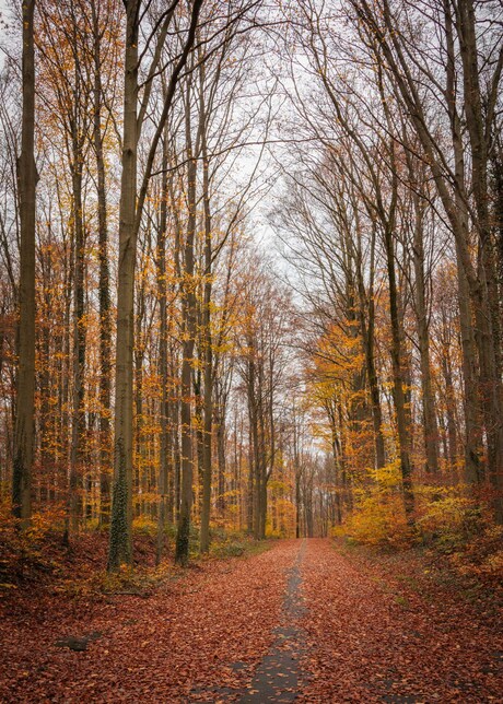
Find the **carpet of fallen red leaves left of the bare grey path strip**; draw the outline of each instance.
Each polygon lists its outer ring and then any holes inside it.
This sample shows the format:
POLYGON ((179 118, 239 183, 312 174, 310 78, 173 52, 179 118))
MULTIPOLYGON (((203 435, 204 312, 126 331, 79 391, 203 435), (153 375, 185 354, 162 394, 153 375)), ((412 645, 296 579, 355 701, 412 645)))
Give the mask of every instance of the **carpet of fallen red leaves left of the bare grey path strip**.
POLYGON ((290 544, 249 560, 207 562, 149 599, 112 596, 85 606, 40 594, 26 601, 25 614, 5 614, 0 626, 8 662, 0 700, 172 703, 242 689, 272 642, 295 554, 290 544), (85 652, 54 645, 93 631, 103 636, 85 652))

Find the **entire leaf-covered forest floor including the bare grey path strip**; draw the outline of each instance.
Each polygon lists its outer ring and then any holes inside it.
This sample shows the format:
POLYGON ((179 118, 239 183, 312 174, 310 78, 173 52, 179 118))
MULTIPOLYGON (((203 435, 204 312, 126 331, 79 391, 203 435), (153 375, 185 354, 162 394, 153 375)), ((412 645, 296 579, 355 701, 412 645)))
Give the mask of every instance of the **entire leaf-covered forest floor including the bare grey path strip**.
POLYGON ((2 601, 2 702, 503 701, 501 603, 413 551, 283 540, 145 591, 2 601))

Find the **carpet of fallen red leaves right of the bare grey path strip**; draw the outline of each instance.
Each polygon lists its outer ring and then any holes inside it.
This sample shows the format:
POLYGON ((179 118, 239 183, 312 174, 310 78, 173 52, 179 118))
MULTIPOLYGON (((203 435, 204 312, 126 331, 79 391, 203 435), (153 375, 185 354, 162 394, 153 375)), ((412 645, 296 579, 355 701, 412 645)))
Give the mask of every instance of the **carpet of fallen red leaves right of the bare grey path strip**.
MULTIPOLYGON (((397 559, 395 568, 400 566, 397 559)), ((312 673, 303 701, 500 697, 494 654, 503 649, 501 627, 482 623, 459 595, 405 588, 389 565, 365 561, 356 568, 326 541, 309 541, 303 572, 311 645, 304 667, 312 673)), ((413 577, 406 584, 414 585, 413 577)))

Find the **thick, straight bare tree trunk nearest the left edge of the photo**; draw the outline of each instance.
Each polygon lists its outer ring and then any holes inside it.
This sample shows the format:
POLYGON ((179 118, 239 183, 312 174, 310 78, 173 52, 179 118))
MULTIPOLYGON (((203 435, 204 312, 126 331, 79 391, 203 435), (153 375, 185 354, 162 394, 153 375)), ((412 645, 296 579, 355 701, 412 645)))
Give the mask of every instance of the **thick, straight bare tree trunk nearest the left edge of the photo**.
POLYGON ((23 1, 23 115, 19 161, 21 250, 20 322, 14 422, 12 505, 27 527, 32 516, 33 423, 35 399, 35 0, 23 1))

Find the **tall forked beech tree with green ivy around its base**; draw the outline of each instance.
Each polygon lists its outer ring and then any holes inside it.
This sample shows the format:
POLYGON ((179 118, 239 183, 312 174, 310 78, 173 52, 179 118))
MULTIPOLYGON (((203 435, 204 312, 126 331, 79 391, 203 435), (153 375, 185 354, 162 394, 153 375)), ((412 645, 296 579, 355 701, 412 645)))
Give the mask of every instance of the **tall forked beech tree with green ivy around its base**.
MULTIPOLYGON (((152 82, 163 59, 163 46, 168 27, 174 23, 179 4, 175 0, 164 10, 157 26, 161 27, 148 68, 143 96, 139 104, 139 31, 143 19, 140 0, 128 0, 126 7, 126 46, 124 81, 124 134, 122 174, 120 181, 119 212, 119 266, 117 284, 117 343, 114 439, 114 491, 110 520, 110 545, 108 570, 132 560, 132 435, 133 435, 133 314, 136 243, 141 224, 143 207, 152 174, 157 145, 175 95, 179 75, 196 38, 196 27, 203 0, 194 0, 190 5, 189 26, 182 38, 182 51, 173 62, 167 81, 161 117, 148 150, 141 187, 137 191, 138 141, 147 117, 152 82)), ((152 34, 155 34, 154 32, 152 34)), ((151 35, 150 40, 154 37, 151 35)), ((144 56, 142 52, 142 58, 144 56)))

